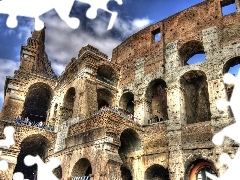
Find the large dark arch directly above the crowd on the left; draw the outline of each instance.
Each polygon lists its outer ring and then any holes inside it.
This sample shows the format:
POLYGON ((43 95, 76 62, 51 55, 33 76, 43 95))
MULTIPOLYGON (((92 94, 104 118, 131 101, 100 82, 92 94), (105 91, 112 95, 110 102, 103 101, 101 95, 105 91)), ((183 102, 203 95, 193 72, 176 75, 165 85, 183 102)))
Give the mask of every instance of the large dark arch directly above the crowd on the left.
POLYGON ((28 89, 22 117, 32 122, 46 121, 47 110, 52 99, 52 89, 45 83, 35 83, 28 89))

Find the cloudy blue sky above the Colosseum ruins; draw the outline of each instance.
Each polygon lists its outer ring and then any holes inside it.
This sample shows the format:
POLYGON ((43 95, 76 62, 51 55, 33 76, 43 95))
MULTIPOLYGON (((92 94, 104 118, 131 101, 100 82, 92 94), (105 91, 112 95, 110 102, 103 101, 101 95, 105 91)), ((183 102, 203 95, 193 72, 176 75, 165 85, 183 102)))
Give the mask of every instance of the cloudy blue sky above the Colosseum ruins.
MULTIPOLYGON (((123 0, 119 6, 110 1, 108 8, 117 11, 118 18, 113 29, 107 31, 109 14, 100 10, 96 19, 89 20, 85 15, 89 6, 75 1, 70 16, 81 20, 76 30, 70 29, 54 10, 40 17, 46 26, 46 52, 59 75, 81 47, 91 44, 111 57, 112 49, 136 31, 200 2, 203 0, 123 0)), ((21 45, 26 45, 34 25, 33 19, 19 17, 18 26, 10 29, 7 17, 0 14, 0 109, 5 77, 13 76, 18 68, 21 45)))

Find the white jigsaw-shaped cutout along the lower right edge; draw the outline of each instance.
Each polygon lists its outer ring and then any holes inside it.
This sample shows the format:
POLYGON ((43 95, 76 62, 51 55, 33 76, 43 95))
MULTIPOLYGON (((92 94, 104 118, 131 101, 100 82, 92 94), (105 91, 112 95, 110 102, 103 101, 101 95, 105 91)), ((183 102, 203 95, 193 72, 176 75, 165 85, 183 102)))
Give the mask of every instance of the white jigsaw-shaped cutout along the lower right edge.
MULTIPOLYGON (((224 100, 219 100, 217 102, 217 107, 220 110, 223 110, 225 107, 230 106, 232 109, 232 112, 235 117, 235 123, 231 124, 224 129, 222 129, 220 132, 215 134, 213 136, 213 143, 220 146, 222 145, 224 141, 224 137, 230 137, 231 139, 237 141, 240 143, 240 137, 239 137, 239 129, 240 129, 240 111, 238 110, 238 103, 240 102, 240 70, 238 72, 238 76, 235 77, 230 73, 227 73, 223 77, 223 81, 226 84, 234 84, 232 96, 230 98, 229 102, 226 102, 224 100)), ((239 175, 239 167, 238 163, 240 162, 240 150, 238 148, 235 157, 232 159, 229 157, 228 154, 223 153, 219 157, 219 161, 223 164, 226 164, 228 166, 227 171, 223 174, 221 177, 216 177, 208 172, 206 172, 206 175, 208 178, 212 180, 229 180, 229 179, 236 179, 239 175)))

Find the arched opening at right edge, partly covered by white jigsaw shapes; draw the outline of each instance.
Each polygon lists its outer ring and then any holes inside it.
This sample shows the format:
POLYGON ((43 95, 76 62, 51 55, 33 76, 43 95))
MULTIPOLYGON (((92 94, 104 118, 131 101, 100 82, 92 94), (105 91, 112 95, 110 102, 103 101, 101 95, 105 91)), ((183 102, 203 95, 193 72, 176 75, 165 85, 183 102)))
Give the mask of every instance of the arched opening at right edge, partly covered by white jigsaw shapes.
MULTIPOLYGON (((223 74, 231 73, 234 76, 238 75, 238 71, 240 69, 240 57, 234 57, 228 60, 223 66, 223 74)), ((225 90, 227 94, 227 99, 230 100, 232 96, 234 85, 233 84, 225 84, 225 90)), ((233 113, 231 108, 229 107, 229 116, 233 117, 233 113)))

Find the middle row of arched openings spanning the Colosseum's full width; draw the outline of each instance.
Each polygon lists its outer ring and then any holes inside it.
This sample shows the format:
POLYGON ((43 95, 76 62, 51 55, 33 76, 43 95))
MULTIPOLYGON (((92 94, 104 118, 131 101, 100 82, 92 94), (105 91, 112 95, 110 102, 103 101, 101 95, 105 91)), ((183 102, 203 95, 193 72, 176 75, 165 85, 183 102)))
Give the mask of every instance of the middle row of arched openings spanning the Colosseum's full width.
MULTIPOLYGON (((110 79, 114 79, 116 74, 113 73, 113 70, 110 71, 108 69, 108 71, 105 72, 106 68, 104 67, 99 67, 98 74, 101 76, 106 76, 110 79)), ((234 57, 224 65, 223 73, 231 72, 236 74, 239 67, 240 57, 234 57)), ((201 122, 204 119, 210 119, 210 103, 208 100, 209 95, 206 80, 206 75, 202 71, 190 71, 182 75, 180 78, 187 123, 201 122)), ((145 98, 148 103, 147 112, 149 113, 147 117, 151 118, 151 116, 158 116, 159 118, 168 119, 166 88, 166 82, 162 79, 156 79, 149 83, 145 92, 145 98)), ((228 98, 231 97, 232 90, 233 85, 226 85, 226 93, 228 98)), ((31 85, 26 94, 24 107, 21 112, 22 117, 29 117, 30 120, 34 120, 35 122, 46 121, 47 111, 49 109, 52 96, 53 90, 46 83, 38 82, 31 85)), ((72 117, 75 97, 75 88, 69 88, 63 99, 62 108, 65 112, 67 112, 63 117, 64 119, 72 117)), ((98 109, 103 106, 113 106, 114 97, 114 94, 112 94, 109 90, 104 88, 98 89, 98 109)), ((56 116, 58 104, 55 104, 54 106, 54 116, 56 116)), ((119 100, 118 106, 128 113, 134 114, 134 94, 130 91, 123 93, 119 100)))

